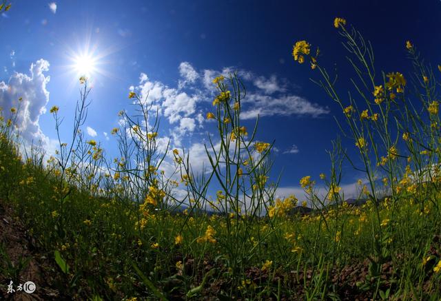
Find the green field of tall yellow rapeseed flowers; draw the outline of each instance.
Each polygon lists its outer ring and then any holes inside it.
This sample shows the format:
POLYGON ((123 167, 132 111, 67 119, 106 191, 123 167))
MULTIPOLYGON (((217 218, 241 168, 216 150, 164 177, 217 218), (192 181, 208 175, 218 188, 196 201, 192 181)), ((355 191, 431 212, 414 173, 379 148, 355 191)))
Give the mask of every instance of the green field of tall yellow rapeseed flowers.
MULTIPOLYGON (((309 214, 296 196, 276 198, 272 144, 256 141, 258 122, 241 123, 246 90, 236 74, 213 81, 218 96, 206 118, 218 134, 205 145, 204 174, 194 174, 185 149, 158 149, 158 116, 135 92, 128 97, 136 116, 121 111, 125 123, 112 129, 118 158, 106 158, 81 132, 85 77, 71 141, 60 141, 54 156, 22 147, 14 127, 20 107, 2 112, 0 213, 13 209, 47 262, 52 277, 37 285, 54 299, 77 300, 441 300, 441 66, 432 70, 407 41, 414 73, 376 72, 371 44, 345 19, 334 26, 353 66, 352 91, 336 88, 326 57, 308 41, 297 41, 292 54, 341 108, 343 139, 358 156, 336 140, 323 167, 329 172, 298 179, 309 214), (161 167, 167 154, 171 175, 161 167), (345 160, 365 175, 362 206, 343 199, 345 160)), ((63 112, 50 113, 58 130, 63 112)), ((29 262, 8 252, 0 239, 5 298, 29 262)))

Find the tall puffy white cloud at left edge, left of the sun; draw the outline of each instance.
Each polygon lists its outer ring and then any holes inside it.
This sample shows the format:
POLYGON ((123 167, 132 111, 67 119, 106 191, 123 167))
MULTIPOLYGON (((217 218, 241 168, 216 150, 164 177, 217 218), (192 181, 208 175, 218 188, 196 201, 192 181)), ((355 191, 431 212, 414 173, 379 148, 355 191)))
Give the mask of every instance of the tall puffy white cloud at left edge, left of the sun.
POLYGON ((49 76, 43 72, 49 70, 49 62, 40 59, 30 65, 30 74, 15 73, 8 83, 0 82, 0 107, 3 112, 10 112, 11 107, 18 107, 17 127, 26 141, 42 141, 49 143, 41 132, 39 118, 46 112, 45 105, 49 101, 46 85, 49 76), (19 101, 19 98, 22 100, 19 101))

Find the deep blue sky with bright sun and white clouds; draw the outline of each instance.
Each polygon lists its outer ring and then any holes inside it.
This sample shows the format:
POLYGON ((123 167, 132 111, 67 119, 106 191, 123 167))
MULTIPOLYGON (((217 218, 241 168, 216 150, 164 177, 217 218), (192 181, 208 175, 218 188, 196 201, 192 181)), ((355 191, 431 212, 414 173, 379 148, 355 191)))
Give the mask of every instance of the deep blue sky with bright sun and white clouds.
MULTIPOLYGON (((60 107, 65 116, 62 137, 68 139, 80 87, 72 56, 93 49, 101 72, 91 74, 92 104, 83 127, 85 132, 93 129, 90 138, 115 156, 114 139, 104 133, 110 136, 118 125, 119 110, 132 107, 130 87, 156 87, 152 95, 161 106, 161 135, 197 156, 215 127, 204 120, 212 110, 209 81, 220 72, 237 70, 249 91, 245 122, 251 128, 260 112, 258 140, 276 141, 274 175, 283 171, 280 191, 297 191, 302 176, 318 179, 328 172, 325 149, 340 134, 334 116, 341 119, 342 114, 309 81, 318 74, 294 62, 291 49, 305 39, 320 46, 327 68, 349 74, 334 17, 345 17, 371 41, 378 70, 409 72, 407 39, 428 61, 441 62, 438 0, 17 0, 0 17, 0 83, 27 93, 26 136, 43 138, 50 149, 56 136, 49 109, 60 107), (165 91, 172 96, 166 98, 165 91)), ((344 91, 348 86, 342 80, 338 87, 344 91)), ((0 105, 14 105, 14 95, 3 90, 0 105)), ((343 139, 343 145, 356 156, 353 141, 343 139)), ((344 176, 343 183, 351 185, 359 175, 347 167, 344 176)))

